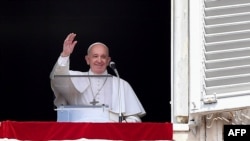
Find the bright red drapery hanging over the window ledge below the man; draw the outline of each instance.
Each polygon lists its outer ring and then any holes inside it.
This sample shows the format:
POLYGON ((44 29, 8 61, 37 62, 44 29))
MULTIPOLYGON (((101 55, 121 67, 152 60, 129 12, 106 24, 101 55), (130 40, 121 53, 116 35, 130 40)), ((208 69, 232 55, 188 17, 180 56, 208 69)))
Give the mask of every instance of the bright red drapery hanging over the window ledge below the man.
POLYGON ((172 140, 171 123, 72 123, 3 121, 0 137, 18 140, 172 140))

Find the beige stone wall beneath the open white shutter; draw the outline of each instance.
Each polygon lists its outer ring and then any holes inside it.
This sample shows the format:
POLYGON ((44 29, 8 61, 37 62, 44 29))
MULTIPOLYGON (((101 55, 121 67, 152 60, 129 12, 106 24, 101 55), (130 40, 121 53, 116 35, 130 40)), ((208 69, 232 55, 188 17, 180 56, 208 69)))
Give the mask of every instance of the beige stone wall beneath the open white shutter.
MULTIPOLYGON (((227 118, 234 124, 250 124, 250 109, 225 112, 217 115, 227 118)), ((197 127, 196 131, 189 129, 188 125, 174 125, 174 141, 223 141, 223 126, 231 123, 222 118, 216 118, 217 115, 212 124, 211 120, 204 120, 204 123, 197 127)))

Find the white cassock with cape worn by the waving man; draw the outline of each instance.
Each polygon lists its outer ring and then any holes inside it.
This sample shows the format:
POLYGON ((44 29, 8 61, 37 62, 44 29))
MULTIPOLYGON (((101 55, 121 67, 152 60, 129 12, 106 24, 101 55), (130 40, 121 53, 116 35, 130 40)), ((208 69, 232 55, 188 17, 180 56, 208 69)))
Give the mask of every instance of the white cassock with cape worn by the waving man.
MULTIPOLYGON (((72 77, 89 75, 93 76, 93 73, 69 70, 69 57, 60 56, 50 75, 51 88, 55 95, 54 104, 57 107, 90 106, 95 99, 98 101, 95 105, 108 106, 110 122, 117 122, 119 113, 122 113, 127 122, 141 122, 140 117, 146 112, 127 81, 115 76, 72 77), (59 75, 65 77, 56 77, 59 75)), ((110 76, 107 71, 102 75, 110 76)))

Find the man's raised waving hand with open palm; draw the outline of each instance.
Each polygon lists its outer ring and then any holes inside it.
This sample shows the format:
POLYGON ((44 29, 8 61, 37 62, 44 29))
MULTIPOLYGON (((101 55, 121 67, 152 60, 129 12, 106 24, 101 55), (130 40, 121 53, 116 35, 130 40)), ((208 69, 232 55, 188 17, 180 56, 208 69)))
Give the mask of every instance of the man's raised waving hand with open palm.
POLYGON ((70 33, 66 37, 63 43, 63 51, 61 53, 61 56, 66 57, 66 56, 69 56, 73 52, 74 47, 77 43, 77 41, 74 41, 75 37, 76 37, 75 33, 70 33))

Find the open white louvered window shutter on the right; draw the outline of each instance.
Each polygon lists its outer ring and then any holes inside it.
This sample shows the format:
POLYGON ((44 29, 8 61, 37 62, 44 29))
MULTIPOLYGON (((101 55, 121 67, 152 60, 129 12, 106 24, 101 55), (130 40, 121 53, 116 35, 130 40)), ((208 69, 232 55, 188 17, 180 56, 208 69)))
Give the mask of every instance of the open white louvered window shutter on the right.
POLYGON ((201 11, 202 84, 199 106, 194 105, 191 113, 249 107, 250 0, 204 0, 201 11))

